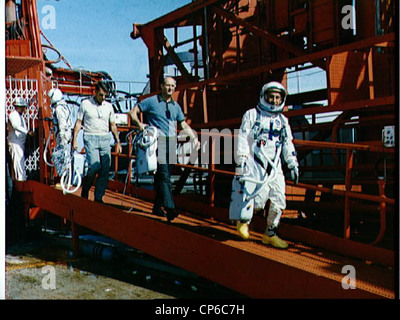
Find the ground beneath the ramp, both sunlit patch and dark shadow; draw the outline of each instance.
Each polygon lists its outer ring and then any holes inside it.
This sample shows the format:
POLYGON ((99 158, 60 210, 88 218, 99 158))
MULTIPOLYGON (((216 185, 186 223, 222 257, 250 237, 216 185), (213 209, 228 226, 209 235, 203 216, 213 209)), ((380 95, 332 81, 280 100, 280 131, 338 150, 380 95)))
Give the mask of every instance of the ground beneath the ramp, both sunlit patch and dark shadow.
POLYGON ((236 298, 239 294, 111 239, 88 236, 74 257, 71 239, 43 234, 6 248, 8 300, 236 298), (111 242, 109 242, 111 241, 111 242), (108 242, 103 245, 103 242, 108 242), (122 249, 121 249, 122 248, 122 249))

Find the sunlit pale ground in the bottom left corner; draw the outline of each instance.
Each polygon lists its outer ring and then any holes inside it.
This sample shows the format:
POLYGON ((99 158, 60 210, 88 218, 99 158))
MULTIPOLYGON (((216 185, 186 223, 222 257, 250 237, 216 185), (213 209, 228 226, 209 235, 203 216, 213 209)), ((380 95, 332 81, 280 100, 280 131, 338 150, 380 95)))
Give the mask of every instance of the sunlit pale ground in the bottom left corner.
POLYGON ((88 261, 85 261, 87 258, 73 259, 66 256, 67 252, 63 250, 47 248, 47 258, 44 259, 37 254, 37 247, 36 252, 32 249, 32 245, 19 246, 11 248, 6 254, 6 299, 174 298, 162 292, 85 270, 87 268, 80 268, 79 263, 88 264, 88 261), (49 257, 49 254, 54 254, 53 258, 49 257))

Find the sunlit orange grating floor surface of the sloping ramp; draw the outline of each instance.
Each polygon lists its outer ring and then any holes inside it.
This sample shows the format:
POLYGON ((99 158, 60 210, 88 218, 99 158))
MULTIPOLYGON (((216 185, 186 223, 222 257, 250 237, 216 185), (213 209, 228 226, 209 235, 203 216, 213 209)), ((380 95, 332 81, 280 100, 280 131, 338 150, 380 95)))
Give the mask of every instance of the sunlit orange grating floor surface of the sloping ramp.
MULTIPOLYGON (((121 195, 109 192, 105 197, 105 202, 118 204, 121 202, 121 195)), ((124 197, 121 203, 130 206, 127 212, 133 211, 135 214, 166 223, 164 218, 151 214, 152 204, 149 202, 124 197)), ((342 273, 342 268, 352 265, 356 270, 356 286, 358 288, 385 298, 394 298, 394 279, 391 268, 367 264, 324 251, 321 248, 313 248, 306 244, 290 241, 288 241, 289 248, 287 250, 276 249, 263 245, 261 243, 262 234, 255 231, 251 232, 251 238, 248 241, 244 241, 237 235, 234 226, 212 219, 199 219, 187 212, 178 216, 172 224, 174 227, 190 230, 253 255, 307 271, 316 277, 335 280, 340 286, 343 277, 347 274, 342 273)))

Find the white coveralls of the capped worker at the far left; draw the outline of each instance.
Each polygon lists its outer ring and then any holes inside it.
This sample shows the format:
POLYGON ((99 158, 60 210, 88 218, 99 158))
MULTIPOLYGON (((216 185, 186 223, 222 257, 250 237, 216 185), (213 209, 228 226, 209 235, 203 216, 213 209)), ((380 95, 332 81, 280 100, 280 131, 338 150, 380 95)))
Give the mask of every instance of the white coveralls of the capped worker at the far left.
POLYGON ((12 159, 12 174, 17 181, 26 181, 25 141, 28 134, 27 124, 22 114, 14 110, 10 113, 7 123, 8 150, 12 159))

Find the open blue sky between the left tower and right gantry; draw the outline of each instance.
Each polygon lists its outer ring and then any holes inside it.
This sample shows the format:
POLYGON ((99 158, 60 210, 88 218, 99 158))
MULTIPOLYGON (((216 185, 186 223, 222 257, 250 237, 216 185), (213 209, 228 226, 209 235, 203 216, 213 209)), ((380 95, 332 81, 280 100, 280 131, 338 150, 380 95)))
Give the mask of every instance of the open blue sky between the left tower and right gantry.
POLYGON ((190 2, 37 0, 37 8, 41 30, 73 68, 106 71, 114 80, 146 82, 147 48, 141 39, 130 38, 132 24, 145 24, 190 2), (54 7, 54 29, 46 28, 49 5, 54 7))

